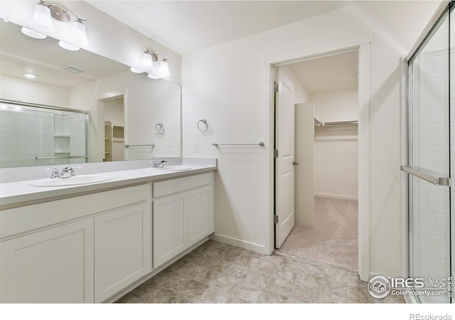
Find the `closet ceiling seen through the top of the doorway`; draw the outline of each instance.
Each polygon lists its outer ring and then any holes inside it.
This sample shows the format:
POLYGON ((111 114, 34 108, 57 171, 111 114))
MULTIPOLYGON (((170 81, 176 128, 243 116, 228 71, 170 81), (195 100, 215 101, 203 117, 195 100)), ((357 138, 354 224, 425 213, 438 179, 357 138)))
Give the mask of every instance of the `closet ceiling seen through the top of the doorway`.
POLYGON ((289 65, 311 93, 358 87, 358 51, 328 55, 289 65))

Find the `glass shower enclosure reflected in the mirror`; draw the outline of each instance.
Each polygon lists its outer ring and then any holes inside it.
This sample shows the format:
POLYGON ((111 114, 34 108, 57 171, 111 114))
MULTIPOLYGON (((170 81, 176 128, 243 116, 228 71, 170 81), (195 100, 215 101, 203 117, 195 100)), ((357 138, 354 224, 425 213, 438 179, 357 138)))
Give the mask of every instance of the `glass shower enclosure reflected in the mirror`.
POLYGON ((88 160, 88 113, 0 100, 0 168, 88 160))

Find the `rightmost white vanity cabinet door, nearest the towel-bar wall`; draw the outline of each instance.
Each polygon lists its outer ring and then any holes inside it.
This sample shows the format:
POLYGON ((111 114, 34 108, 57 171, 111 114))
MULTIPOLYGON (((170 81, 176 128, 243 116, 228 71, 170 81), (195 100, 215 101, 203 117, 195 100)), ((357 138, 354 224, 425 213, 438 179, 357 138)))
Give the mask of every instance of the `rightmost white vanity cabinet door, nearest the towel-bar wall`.
POLYGON ((213 233, 211 186, 188 191, 188 247, 213 233))

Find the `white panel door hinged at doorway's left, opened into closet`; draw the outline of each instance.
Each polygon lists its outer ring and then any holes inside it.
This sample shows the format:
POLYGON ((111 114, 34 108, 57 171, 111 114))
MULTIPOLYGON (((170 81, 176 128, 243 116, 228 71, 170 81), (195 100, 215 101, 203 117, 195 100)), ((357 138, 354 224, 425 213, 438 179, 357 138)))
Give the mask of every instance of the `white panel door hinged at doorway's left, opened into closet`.
POLYGON ((294 84, 282 74, 275 99, 275 247, 279 248, 294 228, 294 84))

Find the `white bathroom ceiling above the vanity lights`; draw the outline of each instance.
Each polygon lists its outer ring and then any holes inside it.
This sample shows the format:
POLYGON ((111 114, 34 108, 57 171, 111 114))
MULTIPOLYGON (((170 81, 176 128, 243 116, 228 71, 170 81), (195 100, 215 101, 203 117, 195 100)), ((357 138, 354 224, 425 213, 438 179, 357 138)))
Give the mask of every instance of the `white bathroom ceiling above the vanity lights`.
POLYGON ((183 54, 324 14, 357 1, 87 2, 183 54))

